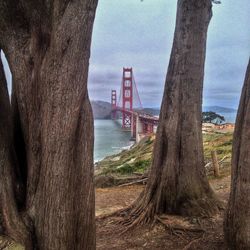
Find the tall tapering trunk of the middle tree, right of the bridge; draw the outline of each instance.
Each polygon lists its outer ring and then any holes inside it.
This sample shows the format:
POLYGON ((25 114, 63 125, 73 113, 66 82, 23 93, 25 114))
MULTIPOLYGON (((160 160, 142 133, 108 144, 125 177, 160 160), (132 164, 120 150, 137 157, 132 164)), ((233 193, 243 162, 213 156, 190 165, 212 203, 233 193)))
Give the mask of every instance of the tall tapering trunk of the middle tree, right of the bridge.
MULTIPOLYGON (((149 181, 125 224, 155 214, 211 215, 218 201, 204 169, 202 88, 211 0, 179 0, 149 181)), ((132 223, 132 224, 131 224, 132 223)))

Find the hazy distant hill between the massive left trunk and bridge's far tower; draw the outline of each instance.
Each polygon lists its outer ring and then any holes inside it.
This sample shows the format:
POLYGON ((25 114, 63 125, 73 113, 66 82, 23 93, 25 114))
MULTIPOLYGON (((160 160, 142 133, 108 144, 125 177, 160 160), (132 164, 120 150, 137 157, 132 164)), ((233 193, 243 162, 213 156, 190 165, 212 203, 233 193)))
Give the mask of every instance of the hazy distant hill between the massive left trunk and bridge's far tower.
POLYGON ((94 119, 110 119, 111 104, 104 101, 91 101, 94 119))

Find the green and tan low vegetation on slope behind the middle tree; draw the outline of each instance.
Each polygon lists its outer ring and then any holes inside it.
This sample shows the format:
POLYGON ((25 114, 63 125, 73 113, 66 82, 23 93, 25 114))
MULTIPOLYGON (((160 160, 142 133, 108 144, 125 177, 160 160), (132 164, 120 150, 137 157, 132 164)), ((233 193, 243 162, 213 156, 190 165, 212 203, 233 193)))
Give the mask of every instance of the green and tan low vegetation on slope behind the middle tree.
MULTIPOLYGON (((215 130, 203 133, 205 165, 211 162, 211 151, 217 152, 221 168, 221 176, 229 174, 232 153, 233 131, 215 130)), ((96 176, 112 176, 126 178, 147 172, 152 161, 154 136, 145 137, 129 150, 108 156, 96 163, 96 176)), ((210 176, 210 172, 208 171, 210 176)), ((213 178, 210 176, 210 178, 213 178)), ((118 182, 120 183, 120 182, 118 182)))

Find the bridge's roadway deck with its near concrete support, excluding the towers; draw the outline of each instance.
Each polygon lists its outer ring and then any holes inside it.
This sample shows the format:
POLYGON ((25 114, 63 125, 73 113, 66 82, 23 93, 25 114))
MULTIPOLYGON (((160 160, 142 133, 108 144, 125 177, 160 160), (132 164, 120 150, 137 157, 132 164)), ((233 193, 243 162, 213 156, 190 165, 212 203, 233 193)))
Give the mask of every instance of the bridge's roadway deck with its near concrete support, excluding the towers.
POLYGON ((128 110, 121 107, 115 107, 112 112, 121 112, 131 117, 131 137, 139 142, 144 136, 153 134, 159 124, 159 117, 147 114, 142 110, 128 110))

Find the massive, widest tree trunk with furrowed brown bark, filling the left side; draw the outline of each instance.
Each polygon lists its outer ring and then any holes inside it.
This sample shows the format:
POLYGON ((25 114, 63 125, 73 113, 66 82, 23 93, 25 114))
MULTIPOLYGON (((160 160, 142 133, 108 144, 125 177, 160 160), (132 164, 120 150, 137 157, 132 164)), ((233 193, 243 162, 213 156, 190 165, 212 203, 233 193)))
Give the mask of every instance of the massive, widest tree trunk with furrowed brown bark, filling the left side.
POLYGON ((27 249, 95 249, 87 77, 97 1, 0 2, 0 48, 13 77, 0 120, 13 128, 0 145, 1 209, 6 234, 27 249))

